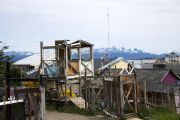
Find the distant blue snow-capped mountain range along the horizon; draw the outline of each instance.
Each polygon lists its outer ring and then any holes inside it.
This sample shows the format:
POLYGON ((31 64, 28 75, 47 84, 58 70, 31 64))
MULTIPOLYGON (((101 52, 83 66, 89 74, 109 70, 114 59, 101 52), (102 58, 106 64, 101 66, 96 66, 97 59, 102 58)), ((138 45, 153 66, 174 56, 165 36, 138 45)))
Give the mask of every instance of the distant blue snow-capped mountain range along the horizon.
MULTIPOLYGON (((13 56, 12 61, 18 61, 25 57, 33 55, 33 52, 5 52, 5 55, 13 56)), ((84 52, 84 57, 87 57, 87 51, 84 52)), ((124 47, 116 48, 96 48, 94 49, 94 57, 101 58, 101 57, 108 57, 108 58, 116 58, 116 57, 123 57, 125 59, 142 59, 142 58, 160 58, 163 57, 165 54, 153 54, 144 52, 140 49, 126 49, 124 47)))

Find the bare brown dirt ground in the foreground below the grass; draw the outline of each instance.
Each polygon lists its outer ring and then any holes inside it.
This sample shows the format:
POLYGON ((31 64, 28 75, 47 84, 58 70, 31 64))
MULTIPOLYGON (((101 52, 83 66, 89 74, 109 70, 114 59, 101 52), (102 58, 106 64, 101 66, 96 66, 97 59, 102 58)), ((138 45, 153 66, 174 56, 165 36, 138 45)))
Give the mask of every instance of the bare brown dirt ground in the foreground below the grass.
POLYGON ((78 114, 61 113, 56 111, 46 111, 47 120, 113 120, 102 115, 83 116, 78 114))

